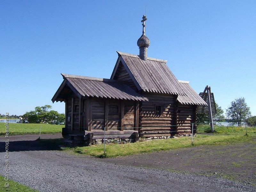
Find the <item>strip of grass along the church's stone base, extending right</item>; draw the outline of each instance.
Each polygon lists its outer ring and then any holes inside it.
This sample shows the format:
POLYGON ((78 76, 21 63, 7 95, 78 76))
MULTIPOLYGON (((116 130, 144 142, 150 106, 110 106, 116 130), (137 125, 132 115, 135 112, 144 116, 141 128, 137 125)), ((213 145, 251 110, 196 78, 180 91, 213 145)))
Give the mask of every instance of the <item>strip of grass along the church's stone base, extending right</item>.
MULTIPOLYGON (((200 127, 199 127, 200 128, 200 127)), ((198 128, 198 129, 199 129, 198 128)), ((207 132, 201 127, 202 132, 207 132), (204 130, 204 131, 202 131, 204 130)), ((216 126, 215 132, 210 134, 198 133, 196 137, 179 137, 175 139, 147 140, 143 142, 127 143, 127 144, 109 144, 106 145, 106 153, 104 155, 104 145, 92 145, 88 147, 65 148, 70 152, 86 154, 95 157, 116 157, 126 156, 138 153, 148 153, 161 150, 170 150, 177 148, 188 148, 199 145, 220 145, 232 144, 237 142, 255 142, 256 128, 248 127, 247 135, 245 135, 244 127, 236 126, 216 126)))

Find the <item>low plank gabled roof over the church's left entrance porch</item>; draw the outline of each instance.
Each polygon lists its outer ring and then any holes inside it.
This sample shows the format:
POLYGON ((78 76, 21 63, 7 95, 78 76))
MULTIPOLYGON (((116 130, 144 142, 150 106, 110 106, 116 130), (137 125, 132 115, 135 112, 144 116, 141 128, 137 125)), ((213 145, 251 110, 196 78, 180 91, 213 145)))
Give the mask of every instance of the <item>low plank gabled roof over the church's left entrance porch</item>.
POLYGON ((52 98, 54 101, 64 101, 61 95, 65 95, 71 89, 78 98, 96 97, 120 100, 148 100, 141 94, 135 92, 132 88, 122 82, 112 79, 102 79, 86 76, 76 76, 63 74, 64 81, 52 98))

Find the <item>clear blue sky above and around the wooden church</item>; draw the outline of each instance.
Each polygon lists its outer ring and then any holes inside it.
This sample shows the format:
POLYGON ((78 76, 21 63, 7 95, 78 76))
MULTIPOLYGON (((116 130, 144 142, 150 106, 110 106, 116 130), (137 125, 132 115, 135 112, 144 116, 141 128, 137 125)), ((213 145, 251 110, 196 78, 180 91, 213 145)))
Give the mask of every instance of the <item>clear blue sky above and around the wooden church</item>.
POLYGON ((0 1, 0 113, 51 99, 60 73, 110 78, 116 51, 139 54, 147 5, 148 56, 168 60, 197 93, 226 109, 244 97, 256 115, 256 1, 0 1))

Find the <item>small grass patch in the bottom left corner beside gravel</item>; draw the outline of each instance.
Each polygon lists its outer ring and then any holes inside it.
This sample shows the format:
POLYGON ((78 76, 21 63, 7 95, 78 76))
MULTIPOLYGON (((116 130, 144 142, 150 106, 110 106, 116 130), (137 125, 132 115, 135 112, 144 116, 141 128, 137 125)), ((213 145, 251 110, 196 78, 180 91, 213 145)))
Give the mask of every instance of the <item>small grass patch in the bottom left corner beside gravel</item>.
POLYGON ((4 176, 0 175, 0 192, 38 192, 26 185, 22 185, 14 180, 4 180, 4 176), (9 187, 5 187, 5 183, 9 184, 9 187))

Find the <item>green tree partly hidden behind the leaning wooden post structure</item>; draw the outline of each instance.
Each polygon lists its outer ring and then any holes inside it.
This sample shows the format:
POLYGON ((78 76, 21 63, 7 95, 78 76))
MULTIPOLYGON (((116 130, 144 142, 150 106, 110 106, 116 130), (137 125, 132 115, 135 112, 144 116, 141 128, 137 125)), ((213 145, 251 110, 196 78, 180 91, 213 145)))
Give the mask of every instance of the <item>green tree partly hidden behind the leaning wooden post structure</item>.
MULTIPOLYGON (((219 107, 218 103, 215 102, 216 113, 212 114, 212 119, 214 122, 224 121, 225 116, 223 115, 224 111, 219 107)), ((197 114, 197 123, 209 123, 210 116, 209 113, 198 113, 197 114)))

